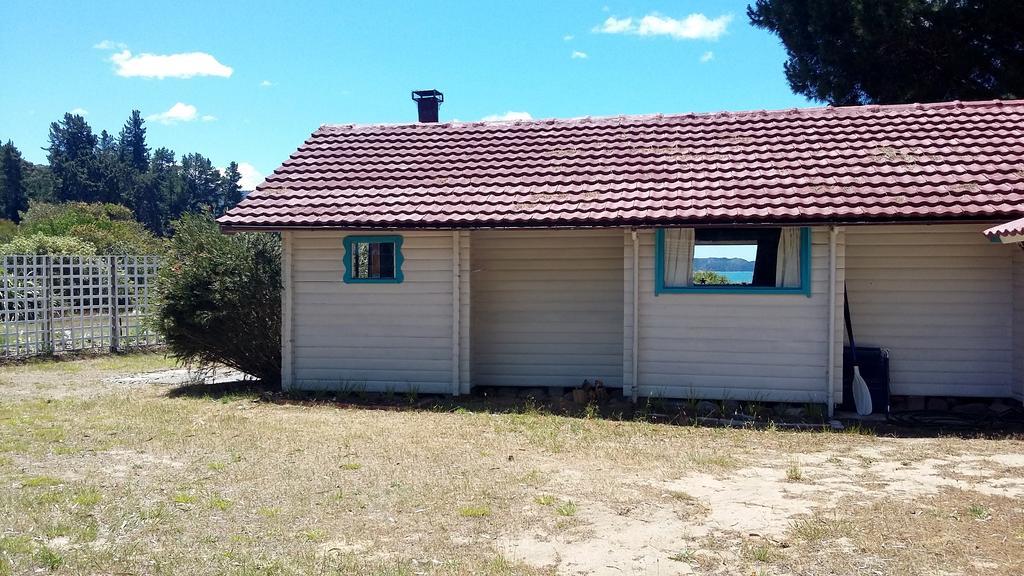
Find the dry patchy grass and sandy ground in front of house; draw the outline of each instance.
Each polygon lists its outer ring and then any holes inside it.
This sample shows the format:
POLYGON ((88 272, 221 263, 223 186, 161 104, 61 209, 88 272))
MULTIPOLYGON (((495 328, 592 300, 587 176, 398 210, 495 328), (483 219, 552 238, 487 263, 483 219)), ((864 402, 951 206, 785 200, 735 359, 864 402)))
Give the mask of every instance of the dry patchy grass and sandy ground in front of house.
POLYGON ((0 575, 1024 574, 1020 438, 389 400, 0 368, 0 575))

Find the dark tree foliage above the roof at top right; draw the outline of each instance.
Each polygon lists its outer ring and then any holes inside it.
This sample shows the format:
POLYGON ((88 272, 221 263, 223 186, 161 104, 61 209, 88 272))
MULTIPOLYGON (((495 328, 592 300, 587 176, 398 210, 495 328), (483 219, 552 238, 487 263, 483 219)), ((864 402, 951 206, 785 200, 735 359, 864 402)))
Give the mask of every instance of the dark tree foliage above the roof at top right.
POLYGON ((836 106, 1024 96, 1019 0, 757 0, 799 94, 836 106))

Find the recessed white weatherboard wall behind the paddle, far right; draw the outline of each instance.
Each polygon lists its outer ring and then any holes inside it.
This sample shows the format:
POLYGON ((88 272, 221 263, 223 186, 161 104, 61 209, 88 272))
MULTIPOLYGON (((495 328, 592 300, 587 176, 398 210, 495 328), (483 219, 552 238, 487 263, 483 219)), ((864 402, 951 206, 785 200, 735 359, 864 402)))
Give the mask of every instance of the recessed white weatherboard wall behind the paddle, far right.
POLYGON ((1009 396, 1013 248, 984 224, 847 229, 858 345, 889 348, 892 394, 1009 396))

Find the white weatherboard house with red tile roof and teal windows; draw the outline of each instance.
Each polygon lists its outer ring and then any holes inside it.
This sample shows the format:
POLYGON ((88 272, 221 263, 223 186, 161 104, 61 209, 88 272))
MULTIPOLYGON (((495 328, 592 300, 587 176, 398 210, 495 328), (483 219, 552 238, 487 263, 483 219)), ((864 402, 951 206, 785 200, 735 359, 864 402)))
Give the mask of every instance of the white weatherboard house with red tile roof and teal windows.
POLYGON ((844 286, 894 395, 1024 399, 1022 215, 1019 100, 327 125, 220 223, 282 234, 289 388, 831 409, 844 286))

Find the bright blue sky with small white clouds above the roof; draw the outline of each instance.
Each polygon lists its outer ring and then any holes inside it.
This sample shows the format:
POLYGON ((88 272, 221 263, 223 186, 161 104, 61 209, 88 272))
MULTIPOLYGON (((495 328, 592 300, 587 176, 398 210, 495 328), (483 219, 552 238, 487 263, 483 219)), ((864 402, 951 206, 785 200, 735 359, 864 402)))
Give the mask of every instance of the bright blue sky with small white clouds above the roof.
POLYGON ((413 89, 442 121, 808 106, 746 3, 7 0, 0 138, 43 162, 65 112, 139 109, 151 146, 266 174, 321 124, 415 121, 413 89))

